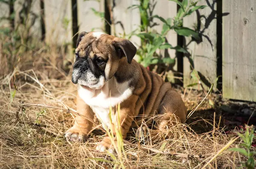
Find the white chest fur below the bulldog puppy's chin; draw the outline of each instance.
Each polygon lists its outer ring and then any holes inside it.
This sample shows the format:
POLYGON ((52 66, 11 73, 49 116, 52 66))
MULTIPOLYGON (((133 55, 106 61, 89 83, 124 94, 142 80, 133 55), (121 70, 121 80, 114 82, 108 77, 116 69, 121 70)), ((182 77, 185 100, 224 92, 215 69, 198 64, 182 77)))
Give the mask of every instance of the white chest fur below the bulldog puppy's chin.
POLYGON ((78 88, 79 96, 91 107, 105 129, 110 127, 109 107, 122 103, 132 95, 132 91, 129 81, 117 83, 114 77, 108 80, 102 89, 88 89, 80 85, 78 88))

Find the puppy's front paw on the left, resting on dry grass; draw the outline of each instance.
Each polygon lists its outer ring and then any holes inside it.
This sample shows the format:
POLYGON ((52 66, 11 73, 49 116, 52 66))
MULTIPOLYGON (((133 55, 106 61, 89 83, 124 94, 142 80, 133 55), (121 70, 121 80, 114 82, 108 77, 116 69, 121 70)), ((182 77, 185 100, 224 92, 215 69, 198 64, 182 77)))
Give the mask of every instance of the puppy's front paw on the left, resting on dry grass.
POLYGON ((65 138, 67 140, 73 141, 73 142, 84 142, 88 139, 87 134, 81 134, 80 129, 71 127, 70 129, 67 130, 65 133, 65 138))

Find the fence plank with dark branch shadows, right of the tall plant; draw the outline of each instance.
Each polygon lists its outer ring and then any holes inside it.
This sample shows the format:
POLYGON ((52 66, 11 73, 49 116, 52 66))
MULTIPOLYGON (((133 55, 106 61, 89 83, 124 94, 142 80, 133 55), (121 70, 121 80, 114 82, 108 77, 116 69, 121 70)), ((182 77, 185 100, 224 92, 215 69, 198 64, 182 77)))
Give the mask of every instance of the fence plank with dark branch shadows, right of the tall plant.
MULTIPOLYGON (((201 42, 198 43, 191 42, 192 38, 185 38, 184 44, 185 46, 188 45, 191 60, 189 61, 188 57, 183 59, 183 85, 186 87, 189 84, 198 83, 200 77, 200 82, 206 84, 205 87, 209 89, 214 83, 215 89, 217 86, 217 4, 216 0, 201 0, 197 5, 206 5, 207 7, 194 12, 183 20, 184 27, 197 28, 202 34, 201 42), (192 69, 198 72, 198 75, 195 74, 197 78, 191 77, 192 69)), ((196 88, 201 89, 199 84, 196 88)))

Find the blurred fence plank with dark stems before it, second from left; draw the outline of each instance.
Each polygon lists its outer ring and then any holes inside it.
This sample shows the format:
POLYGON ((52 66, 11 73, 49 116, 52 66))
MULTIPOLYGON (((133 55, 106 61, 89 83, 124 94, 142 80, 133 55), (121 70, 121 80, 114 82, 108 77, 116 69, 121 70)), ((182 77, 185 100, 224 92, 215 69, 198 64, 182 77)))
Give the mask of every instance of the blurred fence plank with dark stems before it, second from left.
POLYGON ((21 37, 32 36, 39 40, 42 37, 40 0, 16 0, 15 28, 19 28, 21 37))

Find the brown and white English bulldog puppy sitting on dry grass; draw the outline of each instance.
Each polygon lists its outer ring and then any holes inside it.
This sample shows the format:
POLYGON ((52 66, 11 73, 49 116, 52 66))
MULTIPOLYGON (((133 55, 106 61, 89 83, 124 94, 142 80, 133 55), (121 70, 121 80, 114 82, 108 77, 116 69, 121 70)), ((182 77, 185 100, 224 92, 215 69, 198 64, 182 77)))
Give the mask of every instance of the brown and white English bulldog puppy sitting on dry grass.
MULTIPOLYGON (((102 32, 81 32, 72 82, 78 84, 76 104, 82 116, 76 116, 74 125, 65 133, 67 139, 87 140, 94 115, 106 130, 120 123, 124 139, 130 129, 144 122, 152 124, 153 118, 148 117, 154 115, 160 115, 154 124, 156 130, 164 129, 173 115, 181 123, 186 120, 186 106, 180 94, 172 90, 171 83, 137 63, 133 59, 136 52, 136 47, 127 39, 102 32), (119 103, 118 122, 116 106, 119 103)), ((96 149, 104 152, 110 146, 110 138, 105 136, 96 149)))

